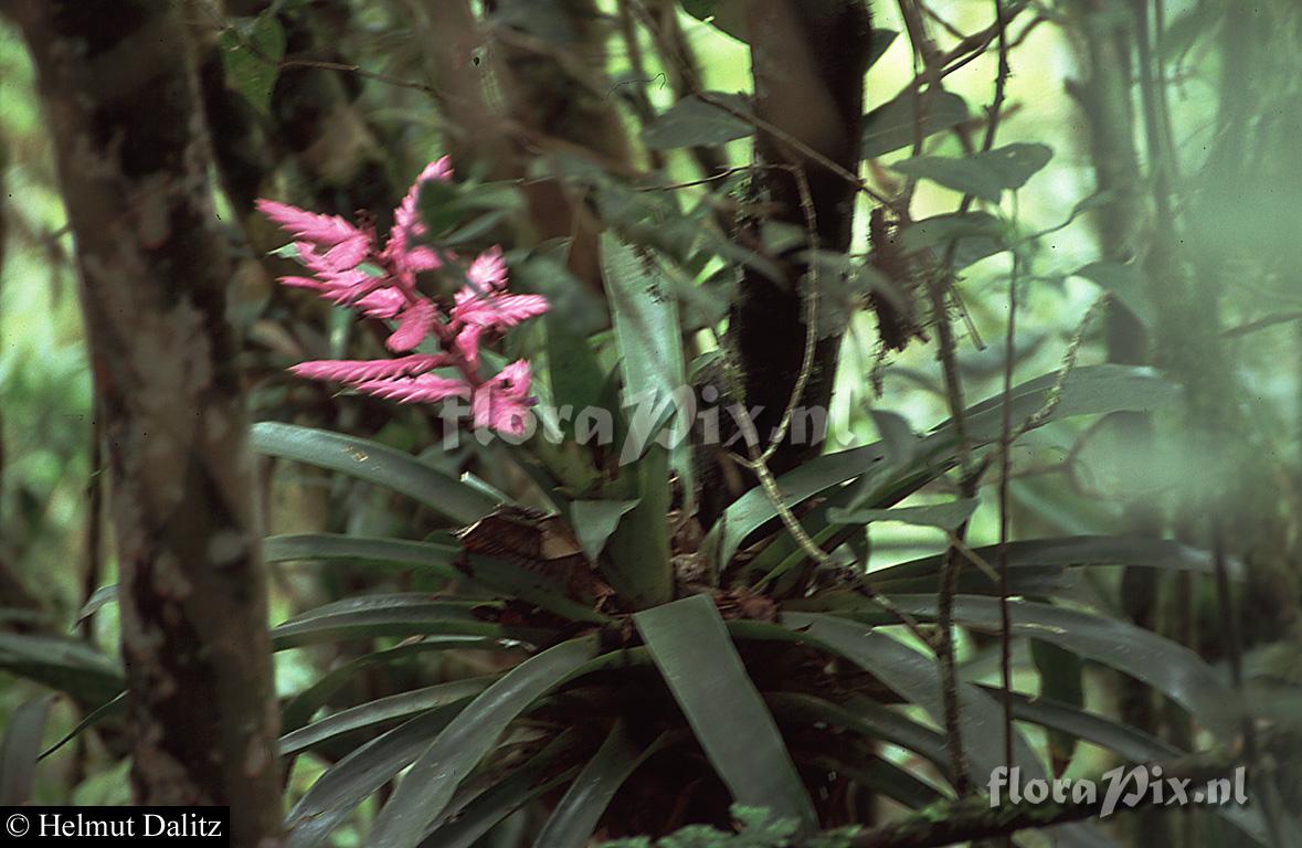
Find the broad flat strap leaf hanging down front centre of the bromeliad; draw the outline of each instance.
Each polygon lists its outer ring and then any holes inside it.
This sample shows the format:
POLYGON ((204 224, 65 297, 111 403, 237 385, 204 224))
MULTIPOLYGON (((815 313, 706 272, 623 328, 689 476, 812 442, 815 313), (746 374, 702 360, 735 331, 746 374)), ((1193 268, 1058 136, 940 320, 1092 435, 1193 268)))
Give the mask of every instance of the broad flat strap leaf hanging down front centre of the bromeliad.
POLYGON ((814 805, 713 601, 684 598, 633 621, 733 800, 812 830, 814 805))

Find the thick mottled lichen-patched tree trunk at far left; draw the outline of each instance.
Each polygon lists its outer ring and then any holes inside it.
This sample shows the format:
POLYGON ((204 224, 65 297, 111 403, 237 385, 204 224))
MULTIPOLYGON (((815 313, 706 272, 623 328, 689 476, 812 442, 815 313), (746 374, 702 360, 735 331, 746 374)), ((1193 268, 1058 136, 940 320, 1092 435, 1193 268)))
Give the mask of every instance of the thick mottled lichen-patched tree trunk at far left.
POLYGON ((176 7, 21 0, 77 238, 111 457, 133 785, 229 804, 236 845, 279 844, 264 573, 229 262, 176 7))

